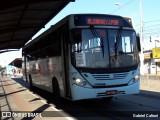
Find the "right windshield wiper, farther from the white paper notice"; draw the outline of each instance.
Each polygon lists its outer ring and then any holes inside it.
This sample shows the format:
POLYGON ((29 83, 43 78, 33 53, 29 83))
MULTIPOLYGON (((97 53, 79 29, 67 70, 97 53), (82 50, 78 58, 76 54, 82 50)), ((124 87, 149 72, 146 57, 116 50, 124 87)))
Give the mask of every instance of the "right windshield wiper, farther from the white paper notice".
POLYGON ((120 27, 117 31, 117 35, 116 35, 116 42, 114 44, 114 49, 115 49, 115 59, 117 59, 117 50, 118 50, 118 46, 121 40, 121 33, 122 33, 122 27, 120 27))

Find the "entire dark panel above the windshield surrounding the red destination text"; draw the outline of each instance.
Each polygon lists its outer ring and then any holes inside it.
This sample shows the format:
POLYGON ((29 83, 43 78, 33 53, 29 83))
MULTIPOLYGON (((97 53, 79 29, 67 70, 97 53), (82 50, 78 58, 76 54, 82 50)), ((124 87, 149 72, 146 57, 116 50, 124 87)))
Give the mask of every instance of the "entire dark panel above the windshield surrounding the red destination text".
POLYGON ((74 24, 75 26, 123 26, 132 28, 130 18, 112 15, 75 15, 74 24))

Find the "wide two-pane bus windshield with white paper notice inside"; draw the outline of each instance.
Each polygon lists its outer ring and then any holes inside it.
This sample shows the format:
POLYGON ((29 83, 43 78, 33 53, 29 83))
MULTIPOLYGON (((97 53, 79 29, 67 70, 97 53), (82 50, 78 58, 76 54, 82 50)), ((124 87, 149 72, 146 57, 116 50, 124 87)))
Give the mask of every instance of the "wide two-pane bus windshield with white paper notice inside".
POLYGON ((83 68, 120 68, 138 64, 136 33, 121 29, 76 29, 72 61, 83 68))

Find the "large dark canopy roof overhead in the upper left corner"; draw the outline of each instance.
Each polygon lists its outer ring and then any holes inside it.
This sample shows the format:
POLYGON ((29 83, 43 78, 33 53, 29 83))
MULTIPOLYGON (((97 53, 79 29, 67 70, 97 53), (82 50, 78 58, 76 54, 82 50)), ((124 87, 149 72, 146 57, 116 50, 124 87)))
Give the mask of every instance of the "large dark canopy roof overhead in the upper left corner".
POLYGON ((69 2, 0 0, 0 53, 19 50, 69 2))

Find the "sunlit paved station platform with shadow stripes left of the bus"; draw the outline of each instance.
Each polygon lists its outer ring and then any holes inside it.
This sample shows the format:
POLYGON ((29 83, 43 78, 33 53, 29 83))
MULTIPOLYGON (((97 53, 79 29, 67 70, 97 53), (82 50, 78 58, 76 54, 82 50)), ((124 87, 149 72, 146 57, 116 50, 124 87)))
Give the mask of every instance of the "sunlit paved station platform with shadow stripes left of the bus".
POLYGON ((0 117, 1 120, 67 119, 54 105, 29 91, 22 78, 12 76, 0 76, 0 117))

